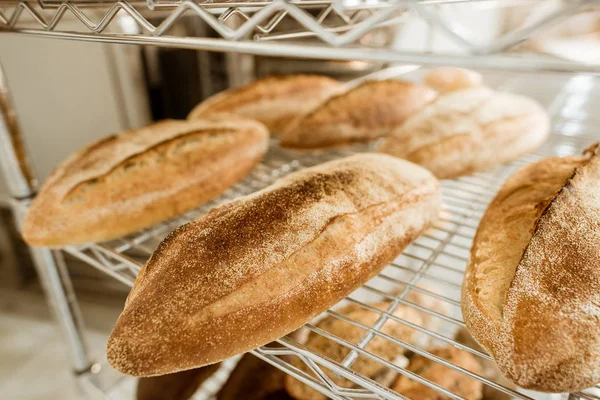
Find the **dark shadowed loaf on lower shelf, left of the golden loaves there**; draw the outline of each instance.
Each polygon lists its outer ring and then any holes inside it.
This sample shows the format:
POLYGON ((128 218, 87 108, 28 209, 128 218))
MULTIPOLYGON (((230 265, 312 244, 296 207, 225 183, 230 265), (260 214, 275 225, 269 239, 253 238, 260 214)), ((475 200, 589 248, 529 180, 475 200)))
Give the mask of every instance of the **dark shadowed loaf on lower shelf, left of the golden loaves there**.
POLYGON ((248 353, 223 385, 217 400, 294 400, 285 390, 286 373, 248 353))

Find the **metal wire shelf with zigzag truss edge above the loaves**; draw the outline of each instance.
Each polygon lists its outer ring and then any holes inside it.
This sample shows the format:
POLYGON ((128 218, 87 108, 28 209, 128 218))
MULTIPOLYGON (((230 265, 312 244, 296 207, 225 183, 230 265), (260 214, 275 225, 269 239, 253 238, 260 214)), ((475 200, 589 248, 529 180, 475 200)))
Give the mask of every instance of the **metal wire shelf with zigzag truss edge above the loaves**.
POLYGON ((0 2, 0 31, 279 57, 600 73, 598 65, 539 54, 506 53, 553 24, 591 7, 600 7, 597 0, 562 2, 558 9, 532 25, 507 32, 487 43, 478 43, 477 35, 469 26, 444 16, 447 7, 465 3, 476 8, 523 4, 512 0, 4 0, 0 2), (206 23, 220 37, 183 37, 171 33, 178 21, 190 16, 206 23), (65 21, 70 17, 81 22, 79 28, 73 28, 72 24, 66 27, 65 21), (430 31, 435 29, 443 34, 461 51, 452 54, 432 53, 430 49, 425 49, 425 53, 407 51, 373 40, 378 30, 401 27, 407 18, 425 22, 430 31))

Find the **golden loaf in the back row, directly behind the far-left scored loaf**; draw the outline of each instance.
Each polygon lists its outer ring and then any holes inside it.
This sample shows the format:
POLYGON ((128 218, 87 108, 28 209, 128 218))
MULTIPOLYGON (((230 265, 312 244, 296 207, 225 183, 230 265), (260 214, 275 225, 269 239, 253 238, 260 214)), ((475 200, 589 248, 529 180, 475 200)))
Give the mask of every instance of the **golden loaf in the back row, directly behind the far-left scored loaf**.
POLYGON ((341 82, 321 75, 270 76, 209 97, 188 118, 233 113, 260 121, 271 132, 280 132, 292 119, 342 88, 341 82))

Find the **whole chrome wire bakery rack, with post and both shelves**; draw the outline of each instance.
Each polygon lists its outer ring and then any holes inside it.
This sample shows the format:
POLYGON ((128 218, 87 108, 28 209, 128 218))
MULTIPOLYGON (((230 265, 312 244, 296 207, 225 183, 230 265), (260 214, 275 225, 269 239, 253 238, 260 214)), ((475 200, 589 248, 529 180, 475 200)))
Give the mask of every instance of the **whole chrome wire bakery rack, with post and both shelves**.
MULTIPOLYGON (((496 395, 493 398, 600 399, 600 386, 563 395, 545 395, 511 388, 497 377, 470 372, 431 352, 433 346, 453 346, 480 360, 490 361, 490 357, 481 349, 458 340, 456 336, 464 328, 459 307, 460 284, 478 221, 498 187, 517 168, 543 156, 578 153, 598 140, 596 127, 600 125, 600 116, 597 114, 600 108, 600 77, 597 75, 600 74, 600 66, 523 51, 521 45, 548 26, 582 11, 600 7, 600 2, 559 2, 558 8, 529 26, 507 31, 486 43, 475 40, 476 32, 445 17, 445 11, 452 7, 489 9, 522 3, 512 0, 0 0, 0 33, 269 56, 360 59, 393 65, 370 76, 373 79, 418 74, 421 66, 428 65, 461 65, 484 71, 493 70, 485 75, 486 82, 491 86, 529 95, 547 107, 552 116, 553 134, 546 144, 535 155, 509 165, 443 182, 443 213, 436 225, 376 278, 341 303, 376 314, 375 322, 366 326, 340 313, 338 307, 328 310, 321 317, 338 319, 349 328, 362 330, 364 335, 360 341, 349 343, 323 330, 315 321, 306 324, 303 328, 305 333, 321 335, 331 343, 346 347, 348 354, 343 360, 330 359, 291 336, 279 339, 276 347, 262 347, 254 350, 253 354, 333 399, 405 398, 388 389, 380 380, 358 373, 354 369, 357 359, 369 359, 379 365, 383 372, 406 376, 448 398, 462 398, 407 369, 406 359, 399 357, 389 360, 371 351, 369 344, 374 339, 388 341, 393 346, 442 365, 447 371, 453 370, 467 380, 479 382, 486 392, 496 395), (171 28, 184 15, 201 19, 219 37, 182 37, 172 34, 171 28), (63 21, 67 18, 81 21, 80 28, 65 30, 63 21), (425 21, 429 32, 445 35, 460 48, 459 51, 441 53, 431 48, 427 51, 407 51, 394 48, 387 42, 372 40, 378 30, 399 29, 415 20, 425 21), (531 72, 544 74, 532 79, 531 72), (428 305, 412 302, 411 293, 419 293, 429 299, 428 305), (394 314, 397 307, 416 309, 436 323, 425 327, 404 321, 394 314), (390 323, 408 326, 416 332, 417 340, 406 342, 387 335, 382 327, 390 323), (299 368, 299 365, 305 367, 299 368), (340 377, 352 384, 340 384, 340 377)), ((72 29, 72 25, 69 26, 72 29)), ((14 197, 14 210, 19 223, 30 199, 35 195, 37 182, 22 144, 8 83, 1 68, 0 110, 0 167, 14 197)), ((264 161, 250 176, 197 210, 107 243, 61 250, 32 248, 45 292, 71 352, 73 368, 84 389, 108 398, 124 398, 119 397, 118 393, 130 379, 111 370, 105 360, 90 359, 82 333, 82 319, 63 259, 64 253, 131 286, 159 241, 177 226, 197 218, 216 204, 266 187, 287 173, 366 150, 369 148, 301 153, 281 149, 274 142, 264 161)), ((235 362, 236 359, 225 362, 214 377, 203 385, 196 398, 212 398, 235 362)))

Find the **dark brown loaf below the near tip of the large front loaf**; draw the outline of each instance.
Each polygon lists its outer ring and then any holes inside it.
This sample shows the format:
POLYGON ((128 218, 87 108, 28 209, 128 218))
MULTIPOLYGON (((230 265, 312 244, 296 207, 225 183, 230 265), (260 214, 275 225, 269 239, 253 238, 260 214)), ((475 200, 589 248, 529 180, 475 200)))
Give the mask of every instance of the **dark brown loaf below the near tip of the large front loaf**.
POLYGON ((138 380, 137 400, 187 400, 196 390, 219 369, 220 364, 207 365, 138 380))

